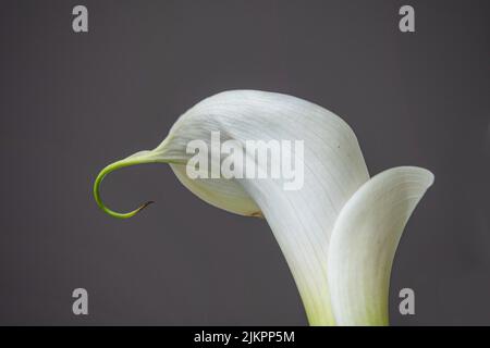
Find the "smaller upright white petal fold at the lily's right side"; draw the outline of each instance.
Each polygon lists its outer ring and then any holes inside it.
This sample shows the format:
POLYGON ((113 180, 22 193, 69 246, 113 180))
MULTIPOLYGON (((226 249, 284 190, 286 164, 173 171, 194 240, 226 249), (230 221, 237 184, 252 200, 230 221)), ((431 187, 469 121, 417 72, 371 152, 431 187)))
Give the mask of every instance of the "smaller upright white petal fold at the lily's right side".
POLYGON ((365 183, 342 209, 328 258, 338 325, 389 324, 393 257, 408 217, 432 183, 425 169, 390 169, 365 183))

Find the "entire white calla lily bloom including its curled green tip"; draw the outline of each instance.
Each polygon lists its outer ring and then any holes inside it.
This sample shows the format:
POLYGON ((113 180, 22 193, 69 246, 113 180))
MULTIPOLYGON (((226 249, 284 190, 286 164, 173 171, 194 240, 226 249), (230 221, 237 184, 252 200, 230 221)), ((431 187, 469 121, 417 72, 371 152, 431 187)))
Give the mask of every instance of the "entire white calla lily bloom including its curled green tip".
POLYGON ((429 171, 395 167, 369 178, 357 138, 342 119, 306 100, 257 90, 200 101, 157 148, 108 165, 94 186, 99 207, 122 219, 145 208, 148 203, 130 213, 113 212, 102 203, 99 186, 117 169, 156 162, 169 163, 179 181, 208 203, 267 220, 311 325, 388 324, 393 256, 409 215, 433 182, 429 171), (304 165, 303 188, 284 190, 277 178, 191 179, 186 146, 209 140, 211 132, 240 142, 304 140, 304 153, 295 153, 304 165))

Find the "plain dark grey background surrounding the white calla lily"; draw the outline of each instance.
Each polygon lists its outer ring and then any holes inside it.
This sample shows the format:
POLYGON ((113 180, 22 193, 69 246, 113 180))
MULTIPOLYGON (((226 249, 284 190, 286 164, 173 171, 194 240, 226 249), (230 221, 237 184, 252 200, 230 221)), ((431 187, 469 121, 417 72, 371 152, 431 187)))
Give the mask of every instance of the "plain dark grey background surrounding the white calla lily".
POLYGON ((370 173, 436 184, 401 240, 391 322, 490 324, 488 1, 2 1, 0 324, 284 324, 306 318, 264 221, 206 204, 155 147, 186 109, 253 88, 317 102, 355 129, 370 173), (89 11, 89 33, 71 10, 89 11), (416 10, 416 33, 397 10, 416 10), (89 293, 89 315, 71 293, 89 293), (416 291, 416 315, 397 293, 416 291))

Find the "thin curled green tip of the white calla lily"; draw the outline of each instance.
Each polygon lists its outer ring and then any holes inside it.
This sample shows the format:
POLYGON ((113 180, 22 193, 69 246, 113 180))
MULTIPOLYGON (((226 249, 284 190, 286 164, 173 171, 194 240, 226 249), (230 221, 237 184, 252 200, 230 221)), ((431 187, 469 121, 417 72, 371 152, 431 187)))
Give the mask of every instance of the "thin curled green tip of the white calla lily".
POLYGON ((159 162, 155 159, 139 159, 139 160, 135 160, 135 159, 125 159, 122 161, 118 161, 114 162, 112 164, 109 164, 108 166, 106 166, 102 171, 100 171, 99 175, 97 175, 97 178, 94 183, 94 198, 97 202, 97 206, 99 206, 99 208, 105 211, 107 214, 113 216, 113 217, 118 217, 118 219, 128 219, 132 217, 134 215, 136 215, 138 212, 140 212, 142 210, 144 210, 146 207, 148 207, 149 204, 154 203, 154 201, 147 201, 144 204, 142 204, 139 208, 128 212, 128 213, 118 213, 109 208, 106 207, 106 204, 102 202, 102 199, 100 198, 100 184, 102 183, 103 178, 106 177, 106 175, 108 175, 109 173, 125 167, 125 166, 131 166, 131 165, 136 165, 136 164, 143 164, 143 163, 156 163, 159 162))

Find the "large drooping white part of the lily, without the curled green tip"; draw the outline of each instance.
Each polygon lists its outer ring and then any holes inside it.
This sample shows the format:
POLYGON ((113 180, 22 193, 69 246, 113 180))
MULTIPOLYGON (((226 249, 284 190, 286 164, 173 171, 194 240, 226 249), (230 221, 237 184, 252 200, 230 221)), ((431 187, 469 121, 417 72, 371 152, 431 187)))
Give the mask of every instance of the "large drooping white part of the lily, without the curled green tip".
MULTIPOLYGON (((369 174, 350 126, 332 112, 292 96, 232 90, 188 110, 151 151, 127 161, 171 163, 181 183, 218 208, 265 216, 285 257, 309 323, 333 325, 327 281, 329 240, 336 216, 369 174), (280 179, 189 179, 191 140, 304 140, 304 186, 286 191, 280 179)), ((125 161, 125 160, 123 160, 125 161)), ((267 169, 261 169, 267 170, 267 169)))

